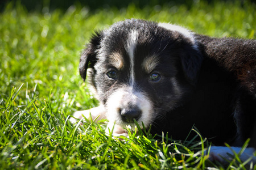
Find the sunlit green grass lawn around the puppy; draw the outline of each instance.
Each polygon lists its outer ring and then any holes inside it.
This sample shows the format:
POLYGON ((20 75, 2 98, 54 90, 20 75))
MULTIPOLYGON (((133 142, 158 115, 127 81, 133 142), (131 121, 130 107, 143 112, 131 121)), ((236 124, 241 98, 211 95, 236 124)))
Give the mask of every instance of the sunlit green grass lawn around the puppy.
POLYGON ((9 3, 0 14, 0 169, 248 168, 238 158, 227 166, 211 163, 204 138, 156 141, 138 130, 140 135, 119 141, 105 135, 104 122, 73 125, 68 118, 97 105, 78 73, 80 53, 94 29, 142 18, 210 36, 255 39, 255 9, 249 1, 195 1, 190 7, 131 4, 90 11, 78 5, 27 12, 9 3))

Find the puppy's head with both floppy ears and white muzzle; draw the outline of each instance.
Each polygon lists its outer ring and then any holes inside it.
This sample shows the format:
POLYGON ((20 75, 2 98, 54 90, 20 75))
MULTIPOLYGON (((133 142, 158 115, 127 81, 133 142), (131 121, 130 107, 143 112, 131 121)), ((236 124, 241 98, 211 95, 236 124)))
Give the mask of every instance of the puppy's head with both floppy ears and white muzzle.
POLYGON ((125 20, 97 32, 80 74, 104 104, 108 120, 146 127, 185 100, 202 57, 193 33, 171 24, 125 20))

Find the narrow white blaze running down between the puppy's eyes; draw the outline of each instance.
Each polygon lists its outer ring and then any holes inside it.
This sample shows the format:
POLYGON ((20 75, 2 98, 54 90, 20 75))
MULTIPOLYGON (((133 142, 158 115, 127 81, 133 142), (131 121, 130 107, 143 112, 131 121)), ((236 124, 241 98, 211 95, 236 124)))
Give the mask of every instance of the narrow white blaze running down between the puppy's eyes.
POLYGON ((138 32, 133 30, 130 32, 129 37, 126 41, 126 51, 129 54, 130 57, 130 62, 131 62, 131 86, 133 86, 134 84, 134 77, 135 77, 135 73, 134 73, 134 50, 135 47, 137 45, 137 38, 138 38, 138 32))

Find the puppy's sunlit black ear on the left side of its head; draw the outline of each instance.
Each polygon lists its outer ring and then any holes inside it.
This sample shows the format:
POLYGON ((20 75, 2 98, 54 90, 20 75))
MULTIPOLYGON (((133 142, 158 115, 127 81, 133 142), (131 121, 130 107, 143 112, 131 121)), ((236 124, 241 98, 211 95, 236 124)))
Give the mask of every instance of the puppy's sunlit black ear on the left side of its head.
POLYGON ((79 63, 79 73, 83 80, 85 80, 86 78, 87 69, 93 68, 97 61, 96 50, 100 45, 101 39, 102 39, 102 33, 96 32, 90 39, 90 43, 87 45, 84 52, 82 52, 80 63, 79 63))

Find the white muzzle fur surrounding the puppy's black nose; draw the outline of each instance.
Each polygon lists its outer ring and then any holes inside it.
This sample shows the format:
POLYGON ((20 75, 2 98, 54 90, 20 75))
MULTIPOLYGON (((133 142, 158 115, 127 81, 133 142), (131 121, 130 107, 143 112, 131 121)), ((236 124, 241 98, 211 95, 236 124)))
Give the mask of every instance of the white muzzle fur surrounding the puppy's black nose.
MULTIPOLYGON (((137 121, 142 128, 142 122, 146 128, 151 124, 152 121, 152 104, 150 100, 143 94, 143 92, 137 92, 133 86, 123 86, 109 96, 106 102, 107 117, 110 122, 115 122, 117 125, 125 127, 129 125, 121 119, 120 109, 127 107, 127 105, 133 105, 141 109, 142 114, 137 121)), ((131 125, 134 130, 134 125, 131 125)))

